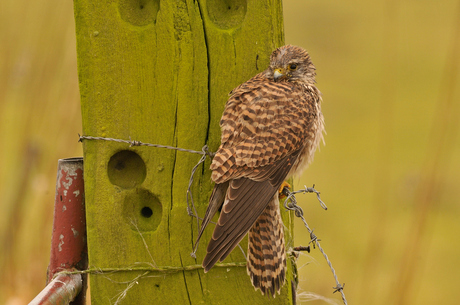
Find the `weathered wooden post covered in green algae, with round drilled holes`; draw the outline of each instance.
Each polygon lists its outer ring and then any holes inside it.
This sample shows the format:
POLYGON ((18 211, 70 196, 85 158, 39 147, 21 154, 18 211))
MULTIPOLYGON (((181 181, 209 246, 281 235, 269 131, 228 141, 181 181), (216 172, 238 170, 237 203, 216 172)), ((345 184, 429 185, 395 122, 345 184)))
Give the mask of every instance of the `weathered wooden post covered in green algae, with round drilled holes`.
MULTIPOLYGON (((265 69, 283 43, 281 0, 74 2, 87 136, 215 151, 228 93, 265 69)), ((273 299, 254 291, 245 266, 225 266, 245 262, 238 249, 203 273, 212 229, 190 256, 197 224, 186 189, 199 155, 97 140, 83 147, 89 266, 102 272, 90 276, 92 304, 292 302, 290 263, 273 299)), ((208 168, 209 160, 193 184, 201 216, 212 189, 208 168)))

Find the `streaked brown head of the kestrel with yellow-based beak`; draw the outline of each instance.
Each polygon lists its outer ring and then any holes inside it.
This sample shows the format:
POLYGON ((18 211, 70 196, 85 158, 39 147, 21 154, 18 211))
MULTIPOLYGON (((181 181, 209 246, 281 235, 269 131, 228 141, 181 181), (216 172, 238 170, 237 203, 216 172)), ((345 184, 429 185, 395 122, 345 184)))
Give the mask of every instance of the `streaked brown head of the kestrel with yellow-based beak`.
POLYGON ((286 45, 273 51, 267 77, 275 81, 315 83, 315 66, 307 51, 300 47, 286 45))

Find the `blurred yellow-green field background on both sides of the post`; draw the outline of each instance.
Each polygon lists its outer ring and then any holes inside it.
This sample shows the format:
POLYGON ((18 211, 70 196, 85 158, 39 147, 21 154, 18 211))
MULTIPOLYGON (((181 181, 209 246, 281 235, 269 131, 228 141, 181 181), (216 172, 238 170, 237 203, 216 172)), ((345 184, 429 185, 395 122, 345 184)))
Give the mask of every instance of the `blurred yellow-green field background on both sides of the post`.
MULTIPOLYGON (((326 146, 295 188, 349 304, 457 304, 460 2, 284 2, 306 48, 326 146)), ((57 160, 81 156, 72 1, 0 1, 0 303, 44 286, 57 160)), ((309 237, 296 226, 296 244, 309 237)), ((299 304, 340 304, 318 250, 299 258, 299 304)))

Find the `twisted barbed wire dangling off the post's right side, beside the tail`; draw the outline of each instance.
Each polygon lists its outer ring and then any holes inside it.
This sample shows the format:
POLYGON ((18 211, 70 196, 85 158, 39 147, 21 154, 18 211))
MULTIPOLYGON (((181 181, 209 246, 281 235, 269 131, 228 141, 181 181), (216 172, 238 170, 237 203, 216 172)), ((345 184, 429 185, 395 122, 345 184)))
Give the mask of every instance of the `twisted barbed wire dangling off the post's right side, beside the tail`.
MULTIPOLYGON (((345 305, 347 305, 347 299, 345 298, 345 293, 343 292, 343 288, 345 287, 345 283, 342 285, 340 284, 339 282, 339 279, 337 278, 337 274, 335 273, 335 269, 332 267, 332 263, 331 261, 329 260, 329 257, 327 256, 326 252, 324 252, 323 248, 321 247, 320 245, 320 241, 321 239, 319 239, 315 233, 313 233, 313 230, 310 229, 310 227, 308 226, 307 224, 307 221, 305 220, 305 218, 303 217, 303 210, 300 206, 297 205, 297 200, 295 198, 295 194, 298 194, 298 193, 302 193, 302 194, 307 194, 307 193, 315 193, 316 194, 316 197, 318 198, 318 201, 320 202, 321 204, 321 207, 324 209, 324 210, 327 210, 327 206, 326 204, 321 200, 319 194, 320 192, 318 192, 316 189, 315 189, 315 185, 313 185, 313 187, 307 187, 307 186, 304 186, 304 189, 301 189, 301 190, 298 190, 298 191, 295 191, 295 192, 291 192, 289 190, 288 187, 284 187, 283 188, 283 194, 286 195, 286 199, 284 200, 284 207, 290 211, 294 211, 294 214, 296 217, 299 217, 300 219, 302 219, 305 227, 307 228, 308 230, 308 233, 310 233, 310 242, 308 244, 312 244, 313 245, 313 248, 315 248, 315 245, 318 247, 319 251, 321 252, 321 254, 324 256, 324 258, 326 259, 326 262, 327 264, 329 265, 329 268, 331 269, 332 271, 332 275, 334 276, 334 279, 335 279, 335 283, 336 283, 336 286, 335 287, 332 287, 334 289, 333 293, 336 293, 337 291, 340 292, 340 294, 342 295, 342 301, 345 305)), ((309 246, 308 247, 302 247, 302 246, 299 246, 299 247, 296 247, 297 250, 300 250, 300 251, 308 251, 310 252, 310 248, 309 246)), ((295 248, 294 248, 295 250, 295 248)))

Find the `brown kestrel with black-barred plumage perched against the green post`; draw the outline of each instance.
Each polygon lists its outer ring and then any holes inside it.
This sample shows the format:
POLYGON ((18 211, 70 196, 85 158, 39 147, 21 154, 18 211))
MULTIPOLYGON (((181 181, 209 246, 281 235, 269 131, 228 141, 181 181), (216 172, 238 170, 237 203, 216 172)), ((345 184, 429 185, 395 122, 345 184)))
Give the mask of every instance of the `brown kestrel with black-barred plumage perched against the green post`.
POLYGON ((323 138, 315 75, 304 49, 276 49, 265 71, 230 93, 220 121, 221 145, 211 164, 216 184, 198 239, 222 210, 204 271, 223 261, 249 232, 247 272, 256 290, 273 297, 286 274, 278 190, 312 161, 323 138))

